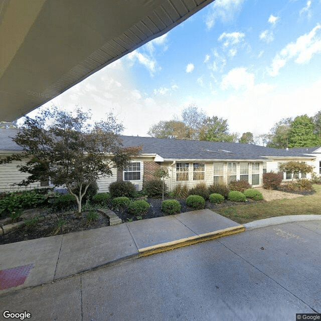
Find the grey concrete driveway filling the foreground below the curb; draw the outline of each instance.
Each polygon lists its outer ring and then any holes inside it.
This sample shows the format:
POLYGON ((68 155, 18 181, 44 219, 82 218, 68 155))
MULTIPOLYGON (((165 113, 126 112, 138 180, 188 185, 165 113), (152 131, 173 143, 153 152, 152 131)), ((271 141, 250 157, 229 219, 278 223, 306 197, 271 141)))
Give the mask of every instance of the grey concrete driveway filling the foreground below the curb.
POLYGON ((13 292, 0 307, 41 321, 294 321, 321 313, 320 257, 321 222, 287 223, 13 292))

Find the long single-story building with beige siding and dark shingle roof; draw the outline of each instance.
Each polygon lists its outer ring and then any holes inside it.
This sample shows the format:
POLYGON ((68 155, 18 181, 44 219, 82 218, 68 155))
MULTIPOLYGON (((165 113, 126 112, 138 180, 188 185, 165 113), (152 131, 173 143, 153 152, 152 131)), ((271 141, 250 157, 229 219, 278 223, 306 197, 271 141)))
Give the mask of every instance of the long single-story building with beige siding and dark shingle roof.
MULTIPOLYGON (((15 129, 0 129, 0 157, 22 150, 10 138, 16 132, 15 129)), ((253 187, 259 187, 263 173, 278 172, 279 165, 288 161, 306 162, 314 168, 315 175, 321 175, 321 146, 276 149, 232 142, 121 137, 124 146, 142 145, 142 152, 125 171, 113 169, 111 177, 100 179, 99 192, 107 192, 109 184, 116 180, 130 181, 141 190, 143 180, 153 179, 159 166, 169 169, 167 184, 170 190, 180 183, 193 187, 201 182, 211 185, 232 180, 245 180, 253 187)), ((0 192, 19 189, 12 184, 26 178, 17 165, 18 162, 13 162, 0 166, 0 192)), ((311 174, 299 173, 296 177, 310 178, 311 174)), ((292 174, 283 173, 283 181, 290 180, 292 174)), ((35 183, 30 188, 44 186, 50 186, 50 181, 35 183)))

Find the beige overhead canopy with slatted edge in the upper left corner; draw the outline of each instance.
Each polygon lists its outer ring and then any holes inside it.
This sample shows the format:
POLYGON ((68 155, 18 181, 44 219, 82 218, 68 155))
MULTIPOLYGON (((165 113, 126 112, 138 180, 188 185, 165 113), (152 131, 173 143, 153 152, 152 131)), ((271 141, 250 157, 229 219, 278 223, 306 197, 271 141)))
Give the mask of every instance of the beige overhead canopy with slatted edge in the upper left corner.
POLYGON ((213 0, 3 0, 0 120, 12 121, 213 0))

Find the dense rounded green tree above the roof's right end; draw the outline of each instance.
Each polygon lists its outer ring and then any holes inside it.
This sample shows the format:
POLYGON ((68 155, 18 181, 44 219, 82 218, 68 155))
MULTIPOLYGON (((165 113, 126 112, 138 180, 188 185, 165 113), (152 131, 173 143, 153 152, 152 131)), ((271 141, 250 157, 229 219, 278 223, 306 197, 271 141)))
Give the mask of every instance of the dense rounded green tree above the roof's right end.
POLYGON ((306 114, 294 118, 289 129, 289 147, 311 147, 320 143, 312 118, 306 114))

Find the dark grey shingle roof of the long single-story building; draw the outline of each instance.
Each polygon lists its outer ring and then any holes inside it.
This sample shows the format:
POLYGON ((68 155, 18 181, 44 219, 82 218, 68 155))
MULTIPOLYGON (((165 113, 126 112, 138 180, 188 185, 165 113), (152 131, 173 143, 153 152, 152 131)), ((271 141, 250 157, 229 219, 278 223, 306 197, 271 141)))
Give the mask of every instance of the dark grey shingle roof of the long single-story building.
MULTIPOLYGON (((0 151, 20 151, 11 137, 17 129, 0 129, 0 151)), ((269 156, 301 156, 319 147, 276 149, 252 144, 184 139, 121 136, 124 146, 142 145, 143 153, 154 153, 165 159, 266 159, 269 156), (265 156, 265 157, 264 157, 265 156)))

